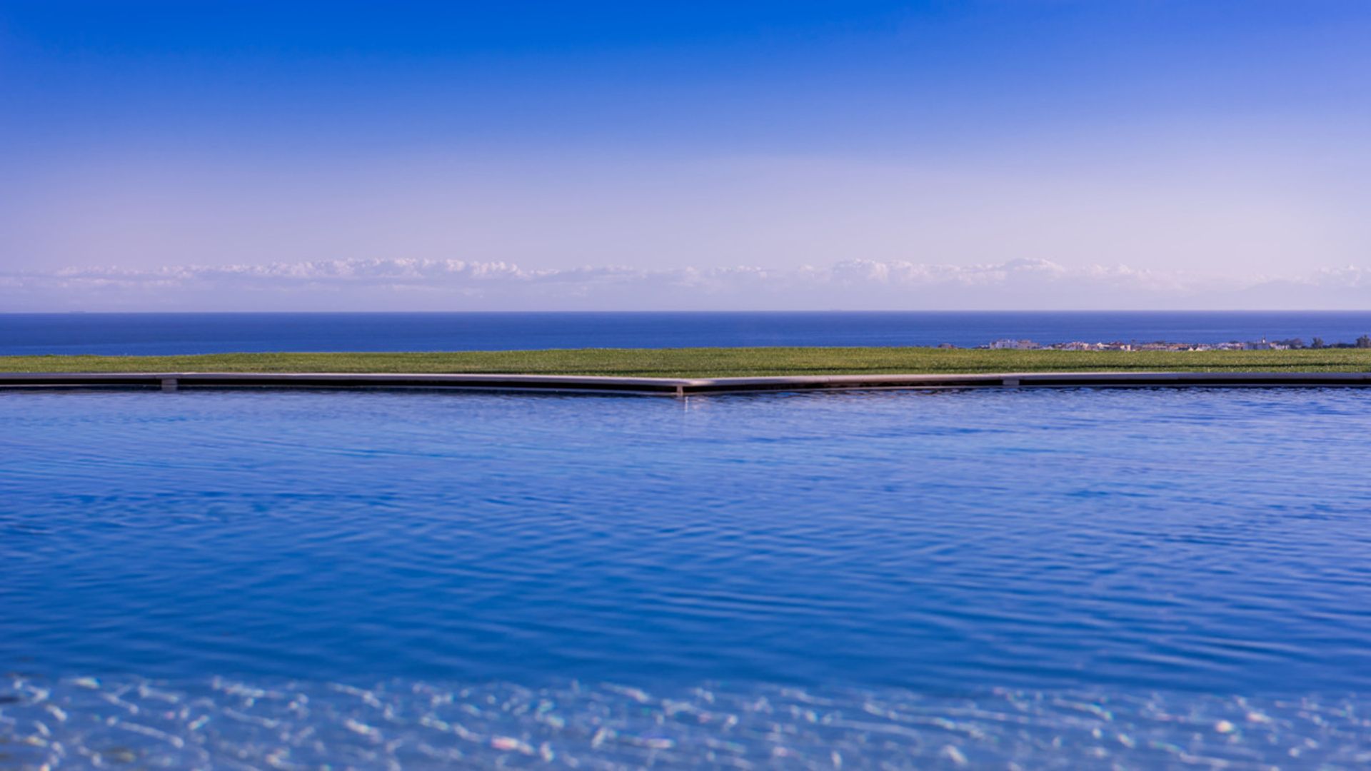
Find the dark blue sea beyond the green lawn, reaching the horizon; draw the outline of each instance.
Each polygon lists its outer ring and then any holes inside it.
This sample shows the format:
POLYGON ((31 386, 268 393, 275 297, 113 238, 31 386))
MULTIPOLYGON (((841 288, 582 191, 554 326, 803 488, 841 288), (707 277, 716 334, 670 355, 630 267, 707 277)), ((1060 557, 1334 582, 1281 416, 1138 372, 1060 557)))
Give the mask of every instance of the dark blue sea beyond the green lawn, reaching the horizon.
POLYGON ((1224 343, 1371 332, 1371 311, 0 314, 0 355, 1224 343))

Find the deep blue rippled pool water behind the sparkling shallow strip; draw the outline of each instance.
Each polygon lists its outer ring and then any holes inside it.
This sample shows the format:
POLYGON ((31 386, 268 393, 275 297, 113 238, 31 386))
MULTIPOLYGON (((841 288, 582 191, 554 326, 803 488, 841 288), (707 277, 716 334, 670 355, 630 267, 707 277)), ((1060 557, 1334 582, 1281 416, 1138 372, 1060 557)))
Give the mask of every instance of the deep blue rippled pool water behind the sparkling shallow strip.
POLYGON ((1371 693, 1368 407, 3 394, 0 661, 1371 693))

